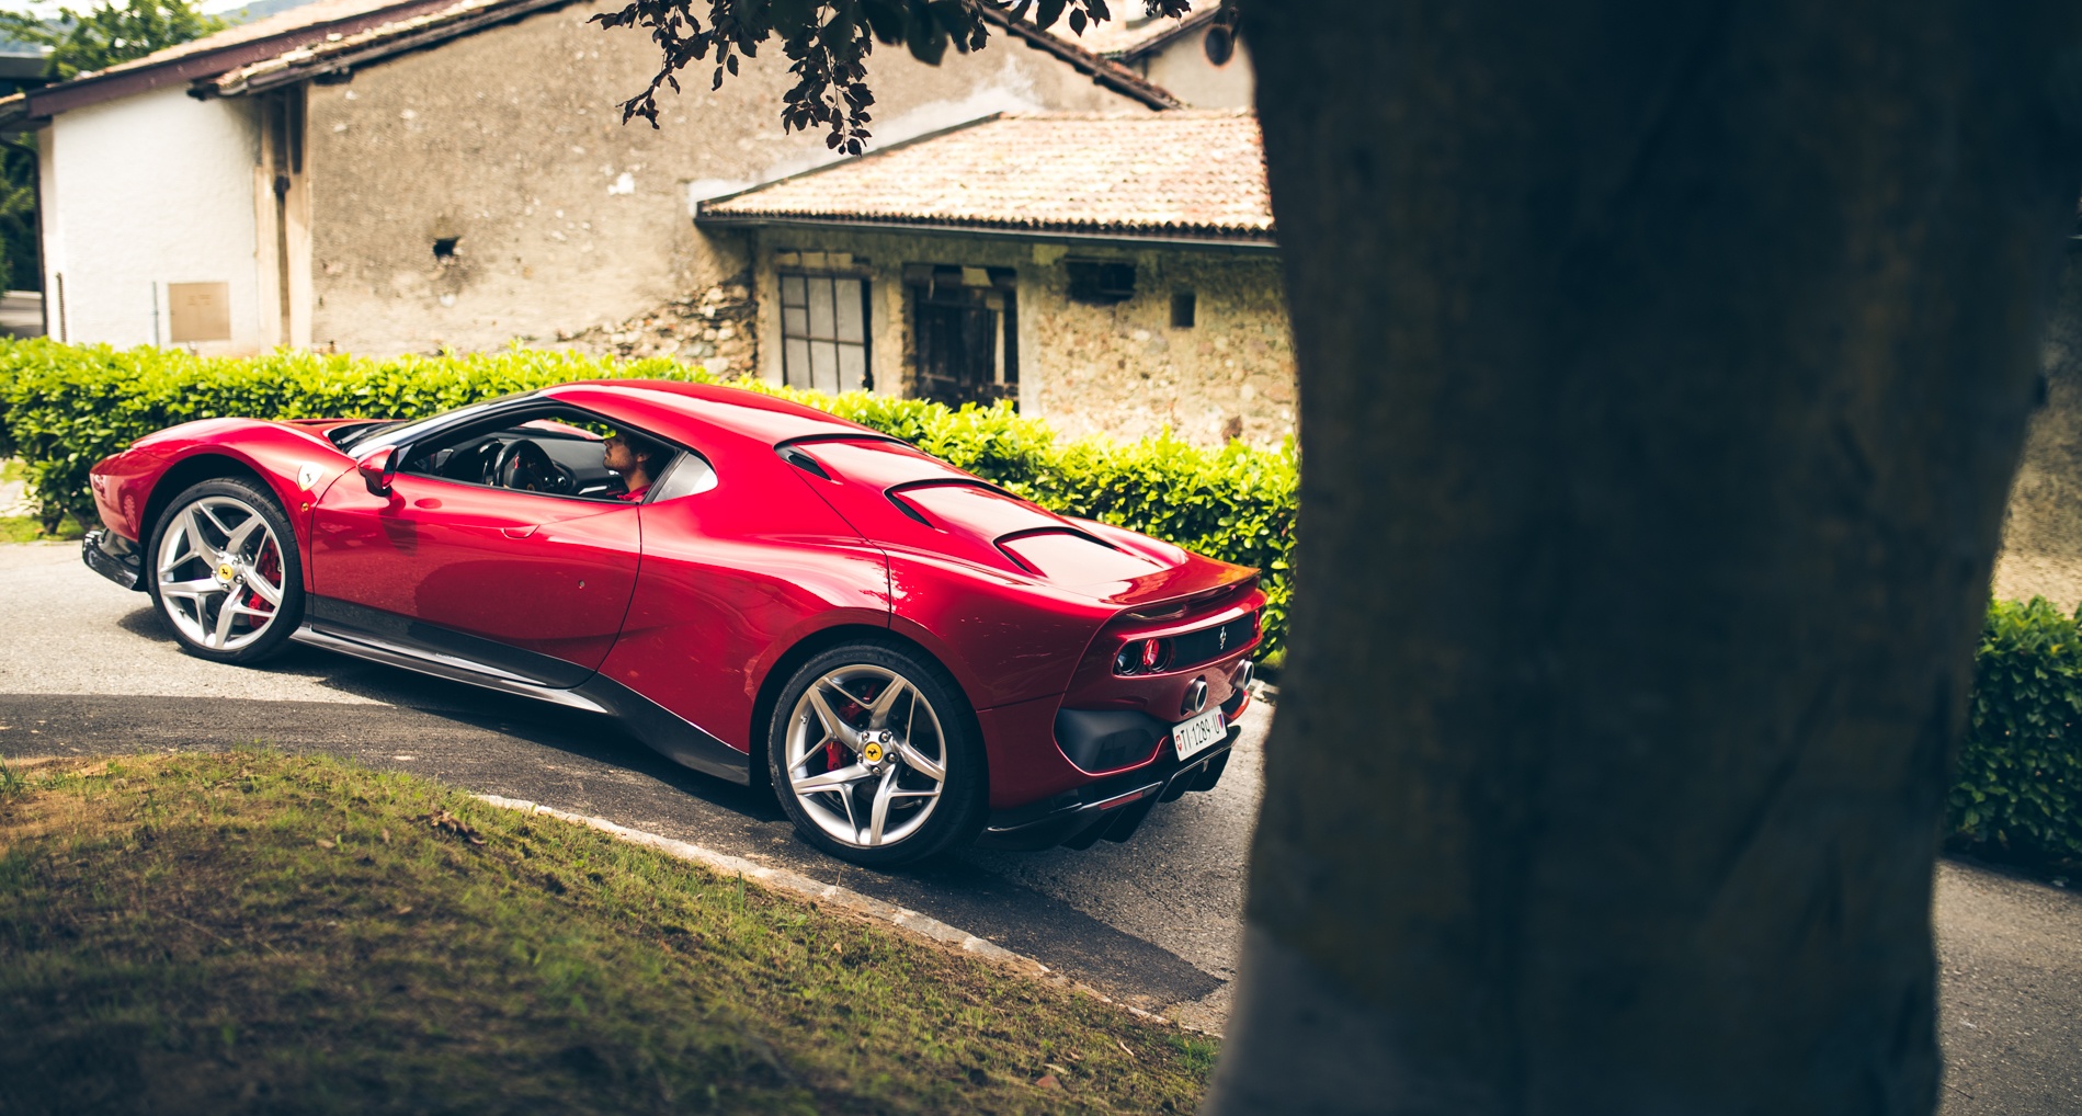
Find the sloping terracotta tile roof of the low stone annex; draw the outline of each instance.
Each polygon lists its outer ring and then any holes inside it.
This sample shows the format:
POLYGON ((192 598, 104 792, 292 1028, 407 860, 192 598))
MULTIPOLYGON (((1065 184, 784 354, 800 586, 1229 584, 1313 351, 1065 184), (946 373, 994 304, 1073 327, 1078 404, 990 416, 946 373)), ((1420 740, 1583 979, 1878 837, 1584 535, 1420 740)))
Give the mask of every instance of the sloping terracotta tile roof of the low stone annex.
POLYGON ((1272 242, 1249 112, 1001 112, 702 202, 700 221, 1272 242))

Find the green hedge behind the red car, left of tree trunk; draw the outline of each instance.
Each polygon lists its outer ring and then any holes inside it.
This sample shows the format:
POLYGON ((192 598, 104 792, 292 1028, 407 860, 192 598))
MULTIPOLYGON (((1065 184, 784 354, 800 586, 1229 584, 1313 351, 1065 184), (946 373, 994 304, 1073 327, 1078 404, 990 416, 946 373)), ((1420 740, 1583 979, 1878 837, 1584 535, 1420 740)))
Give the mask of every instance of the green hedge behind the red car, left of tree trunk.
MULTIPOLYGON (((473 400, 600 377, 716 379, 700 366, 662 358, 535 350, 383 360, 287 350, 202 358, 181 350, 0 339, 0 456, 27 462, 46 518, 56 523, 73 512, 92 523, 87 466, 175 423, 227 414, 416 418, 473 400)), ((866 391, 820 396, 733 383, 891 433, 1047 508, 1258 566, 1272 600, 1266 654, 1285 645, 1297 498, 1291 446, 1268 452, 1230 443, 1210 452, 1174 437, 1064 441, 1047 423, 1006 406, 949 410, 866 391)))

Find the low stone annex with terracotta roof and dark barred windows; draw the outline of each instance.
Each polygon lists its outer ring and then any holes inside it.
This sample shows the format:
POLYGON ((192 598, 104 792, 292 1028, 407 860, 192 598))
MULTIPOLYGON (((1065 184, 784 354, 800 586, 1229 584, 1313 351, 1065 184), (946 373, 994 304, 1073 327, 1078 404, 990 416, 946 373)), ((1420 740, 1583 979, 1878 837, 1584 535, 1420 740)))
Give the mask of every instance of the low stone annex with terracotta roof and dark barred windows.
POLYGON ((1293 431, 1258 121, 1001 112, 700 204, 752 260, 760 373, 1016 400, 1070 435, 1293 431))

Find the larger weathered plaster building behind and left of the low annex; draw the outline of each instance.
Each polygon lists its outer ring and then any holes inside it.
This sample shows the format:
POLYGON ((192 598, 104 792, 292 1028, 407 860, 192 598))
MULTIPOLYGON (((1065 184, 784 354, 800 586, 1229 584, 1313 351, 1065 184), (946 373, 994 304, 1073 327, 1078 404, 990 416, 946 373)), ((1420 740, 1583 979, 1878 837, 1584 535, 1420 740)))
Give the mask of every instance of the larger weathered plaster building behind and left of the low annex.
MULTIPOLYGON (((618 8, 618 4, 614 4, 618 8)), ((689 217, 833 156, 781 129, 779 50, 625 125, 658 50, 593 0, 316 0, 0 100, 35 129, 50 331, 200 352, 489 348, 743 308, 689 217)), ((989 50, 874 54, 877 140, 993 110, 1178 102, 997 21, 989 50)), ((710 321, 710 319, 704 319, 710 321)), ((706 339, 681 356, 729 362, 706 339)), ((750 356, 745 356, 750 358, 750 356)))

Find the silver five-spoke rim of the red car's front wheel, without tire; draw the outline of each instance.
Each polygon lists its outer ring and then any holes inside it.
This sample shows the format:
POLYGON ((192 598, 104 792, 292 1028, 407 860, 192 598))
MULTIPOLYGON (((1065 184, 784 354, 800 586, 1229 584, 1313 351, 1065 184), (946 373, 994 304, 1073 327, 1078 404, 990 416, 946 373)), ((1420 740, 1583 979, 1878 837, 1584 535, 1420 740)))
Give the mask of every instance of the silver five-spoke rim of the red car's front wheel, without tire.
POLYGON ((239 652, 281 618, 283 539, 252 502, 202 496, 160 531, 154 577, 160 610, 187 641, 239 652))

